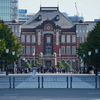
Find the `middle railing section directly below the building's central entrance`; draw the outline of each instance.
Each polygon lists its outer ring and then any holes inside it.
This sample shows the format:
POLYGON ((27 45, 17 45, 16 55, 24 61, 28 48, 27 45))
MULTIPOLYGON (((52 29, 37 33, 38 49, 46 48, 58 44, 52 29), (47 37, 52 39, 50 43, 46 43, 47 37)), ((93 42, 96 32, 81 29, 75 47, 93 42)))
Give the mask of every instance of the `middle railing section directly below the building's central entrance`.
POLYGON ((42 88, 68 88, 68 76, 42 76, 42 88))

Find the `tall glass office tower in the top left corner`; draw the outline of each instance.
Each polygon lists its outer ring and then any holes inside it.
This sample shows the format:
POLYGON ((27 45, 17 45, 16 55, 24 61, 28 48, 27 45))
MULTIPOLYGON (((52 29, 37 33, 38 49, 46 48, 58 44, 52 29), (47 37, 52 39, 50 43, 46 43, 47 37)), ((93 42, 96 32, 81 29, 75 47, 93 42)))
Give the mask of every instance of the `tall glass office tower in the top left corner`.
POLYGON ((18 0, 0 0, 0 19, 4 21, 18 19, 18 0))

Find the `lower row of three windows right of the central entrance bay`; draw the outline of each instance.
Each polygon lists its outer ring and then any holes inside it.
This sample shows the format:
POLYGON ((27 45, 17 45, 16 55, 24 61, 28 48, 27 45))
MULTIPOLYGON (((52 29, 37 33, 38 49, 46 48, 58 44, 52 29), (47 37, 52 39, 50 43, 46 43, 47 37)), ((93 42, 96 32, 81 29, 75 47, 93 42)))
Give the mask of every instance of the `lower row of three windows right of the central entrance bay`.
POLYGON ((76 55, 76 46, 61 46, 62 55, 76 55))

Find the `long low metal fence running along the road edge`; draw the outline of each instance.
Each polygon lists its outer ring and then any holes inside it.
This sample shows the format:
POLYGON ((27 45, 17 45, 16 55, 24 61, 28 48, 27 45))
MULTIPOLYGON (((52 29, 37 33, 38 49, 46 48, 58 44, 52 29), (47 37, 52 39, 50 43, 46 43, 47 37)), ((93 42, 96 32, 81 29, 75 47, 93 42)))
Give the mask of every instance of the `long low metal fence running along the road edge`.
POLYGON ((100 76, 43 75, 0 76, 0 88, 98 88, 100 76))

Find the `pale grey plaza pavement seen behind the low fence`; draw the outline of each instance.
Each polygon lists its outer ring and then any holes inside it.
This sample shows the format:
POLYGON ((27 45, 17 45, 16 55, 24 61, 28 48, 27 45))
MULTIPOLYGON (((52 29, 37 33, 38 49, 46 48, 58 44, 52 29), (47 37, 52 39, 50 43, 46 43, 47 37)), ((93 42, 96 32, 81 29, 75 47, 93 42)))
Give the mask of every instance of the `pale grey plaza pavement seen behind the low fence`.
MULTIPOLYGON (((11 77, 11 88, 13 88, 13 77, 15 77, 15 84, 14 88, 95 88, 95 75, 88 75, 88 74, 66 74, 66 73, 37 73, 35 78, 33 79, 32 73, 29 74, 9 74, 8 76, 11 77), (86 78, 80 77, 87 77, 89 76, 88 80, 86 78), (73 84, 71 86, 71 77, 73 77, 73 84), (39 79, 38 79, 39 78, 39 79), (93 81, 92 81, 93 80, 93 81), (39 83, 38 83, 39 81, 39 83), (43 82, 42 82, 43 81, 43 82)), ((5 74, 1 75, 1 77, 8 77, 5 74)), ((99 77, 100 79, 100 77, 99 77)), ((98 79, 97 88, 100 86, 100 80, 98 79)), ((7 84, 6 79, 2 78, 0 81, 6 82, 5 84, 0 84, 0 88, 7 88, 9 84, 7 84)))

